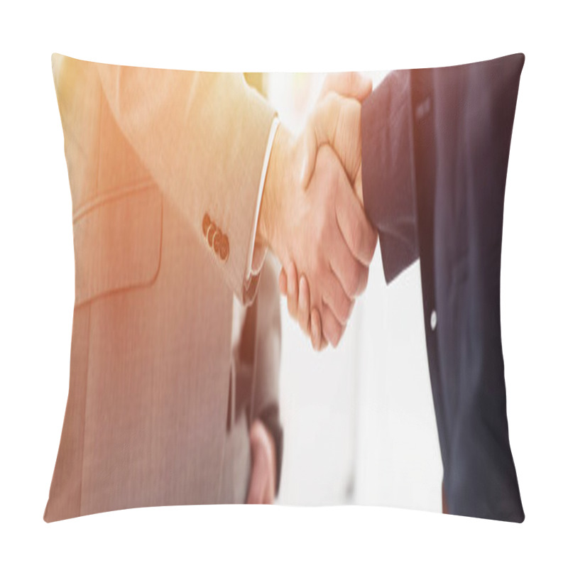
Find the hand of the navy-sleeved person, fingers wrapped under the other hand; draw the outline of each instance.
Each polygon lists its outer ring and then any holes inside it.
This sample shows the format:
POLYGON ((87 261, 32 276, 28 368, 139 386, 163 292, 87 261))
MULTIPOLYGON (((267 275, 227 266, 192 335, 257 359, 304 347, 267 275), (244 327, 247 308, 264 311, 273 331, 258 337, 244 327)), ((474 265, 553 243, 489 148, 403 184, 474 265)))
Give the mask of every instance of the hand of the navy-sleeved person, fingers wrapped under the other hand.
MULTIPOLYGON (((361 180, 361 107, 360 104, 343 104, 345 97, 364 99, 371 91, 371 82, 366 82, 356 73, 328 75, 320 101, 310 116, 309 128, 303 134, 304 168, 302 185, 307 186, 315 165, 318 148, 329 144, 339 155, 361 204, 363 203, 361 180)), ((280 273, 280 293, 288 296, 288 311, 300 327, 310 334, 314 349, 324 349, 327 339, 322 333, 322 320, 317 308, 310 313, 310 287, 304 275, 298 283, 294 264, 280 273)))

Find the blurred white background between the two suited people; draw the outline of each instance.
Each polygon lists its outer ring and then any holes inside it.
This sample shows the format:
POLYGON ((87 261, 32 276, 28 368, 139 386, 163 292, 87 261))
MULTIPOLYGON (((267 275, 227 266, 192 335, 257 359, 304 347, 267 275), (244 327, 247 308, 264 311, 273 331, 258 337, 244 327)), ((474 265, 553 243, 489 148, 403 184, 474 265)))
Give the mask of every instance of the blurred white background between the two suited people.
MULTIPOLYGON (((368 74, 373 87, 386 72, 368 74)), ((324 75, 273 73, 268 98, 300 133, 324 75)), ((380 246, 337 349, 312 351, 282 310, 284 457, 279 503, 442 509, 442 461, 422 319, 420 266, 386 285, 380 246)))

